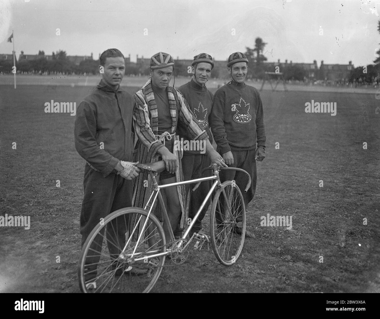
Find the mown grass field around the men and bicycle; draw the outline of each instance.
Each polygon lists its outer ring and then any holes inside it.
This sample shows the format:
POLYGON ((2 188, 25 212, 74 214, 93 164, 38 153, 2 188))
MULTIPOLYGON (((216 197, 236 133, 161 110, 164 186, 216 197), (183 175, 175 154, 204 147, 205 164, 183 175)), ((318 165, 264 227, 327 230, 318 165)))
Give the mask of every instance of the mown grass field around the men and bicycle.
MULTIPOLYGON (((44 103, 78 105, 91 89, 0 86, 0 215, 30 215, 29 230, 0 227, 0 292, 79 292, 84 159, 74 148, 75 117, 44 113, 44 103)), ((232 267, 218 264, 211 247, 180 266, 167 260, 152 292, 380 292, 379 100, 296 91, 261 97, 266 158, 247 215, 256 238, 232 267), (336 102, 337 115, 305 113, 311 100, 336 102), (293 216, 292 229, 261 227, 267 214, 293 216)))

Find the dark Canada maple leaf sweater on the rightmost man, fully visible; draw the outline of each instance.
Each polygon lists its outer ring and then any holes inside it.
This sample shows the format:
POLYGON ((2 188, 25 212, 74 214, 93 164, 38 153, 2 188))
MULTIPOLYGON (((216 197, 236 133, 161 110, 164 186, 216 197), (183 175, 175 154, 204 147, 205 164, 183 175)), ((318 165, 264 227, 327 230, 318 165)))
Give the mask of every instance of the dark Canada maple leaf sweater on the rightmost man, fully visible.
POLYGON ((234 80, 223 85, 214 94, 210 118, 220 154, 265 146, 263 103, 253 86, 234 80))

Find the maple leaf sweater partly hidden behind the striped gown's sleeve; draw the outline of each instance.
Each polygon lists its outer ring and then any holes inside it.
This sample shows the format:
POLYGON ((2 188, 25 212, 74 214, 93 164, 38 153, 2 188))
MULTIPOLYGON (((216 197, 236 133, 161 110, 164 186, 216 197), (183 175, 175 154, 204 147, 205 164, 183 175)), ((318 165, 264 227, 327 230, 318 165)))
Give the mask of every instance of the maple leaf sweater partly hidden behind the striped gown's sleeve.
MULTIPOLYGON (((190 106, 191 111, 194 113, 198 124, 207 132, 209 135, 209 141, 212 144, 212 135, 209 127, 210 115, 213 97, 212 93, 207 90, 206 85, 201 86, 196 83, 193 79, 178 88, 178 91, 182 93, 186 102, 190 106)), ((185 127, 177 127, 177 134, 179 138, 183 138, 184 141, 192 140, 191 136, 188 136, 185 127)), ((201 154, 199 150, 185 150, 184 155, 194 155, 201 154)))

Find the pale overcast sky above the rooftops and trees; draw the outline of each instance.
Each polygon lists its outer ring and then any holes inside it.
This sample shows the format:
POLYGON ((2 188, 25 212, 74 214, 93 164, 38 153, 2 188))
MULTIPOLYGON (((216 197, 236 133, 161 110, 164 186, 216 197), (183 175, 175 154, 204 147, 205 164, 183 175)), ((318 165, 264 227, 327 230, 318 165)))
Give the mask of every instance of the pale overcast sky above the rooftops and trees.
POLYGON ((0 53, 12 52, 12 29, 17 57, 62 49, 97 59, 116 47, 132 61, 159 51, 226 60, 260 37, 268 61, 360 66, 380 48, 379 13, 380 0, 0 0, 0 53))

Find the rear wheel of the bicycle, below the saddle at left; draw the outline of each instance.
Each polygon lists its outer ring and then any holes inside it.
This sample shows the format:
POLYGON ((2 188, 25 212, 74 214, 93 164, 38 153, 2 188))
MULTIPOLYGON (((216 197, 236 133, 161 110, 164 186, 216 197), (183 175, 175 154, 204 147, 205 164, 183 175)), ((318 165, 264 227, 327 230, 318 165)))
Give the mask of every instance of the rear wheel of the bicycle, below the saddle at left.
POLYGON ((147 216, 141 208, 122 208, 92 230, 79 260, 82 292, 149 292, 153 288, 165 256, 152 255, 165 252, 166 246, 157 217, 150 214, 142 229, 147 216))

